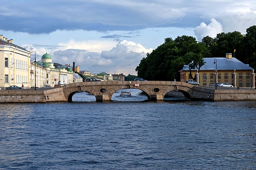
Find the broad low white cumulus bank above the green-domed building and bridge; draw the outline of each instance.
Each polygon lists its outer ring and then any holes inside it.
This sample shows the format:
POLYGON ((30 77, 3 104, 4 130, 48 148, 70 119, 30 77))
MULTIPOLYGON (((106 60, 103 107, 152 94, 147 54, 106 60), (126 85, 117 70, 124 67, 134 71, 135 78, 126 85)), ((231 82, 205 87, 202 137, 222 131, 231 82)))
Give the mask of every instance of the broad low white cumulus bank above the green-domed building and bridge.
POLYGON ((120 41, 116 47, 102 52, 91 52, 84 49, 60 49, 53 52, 53 62, 60 64, 79 65, 80 70, 89 70, 92 73, 107 72, 109 74, 124 73, 136 75, 135 68, 140 60, 152 52, 141 44, 132 41, 120 41))

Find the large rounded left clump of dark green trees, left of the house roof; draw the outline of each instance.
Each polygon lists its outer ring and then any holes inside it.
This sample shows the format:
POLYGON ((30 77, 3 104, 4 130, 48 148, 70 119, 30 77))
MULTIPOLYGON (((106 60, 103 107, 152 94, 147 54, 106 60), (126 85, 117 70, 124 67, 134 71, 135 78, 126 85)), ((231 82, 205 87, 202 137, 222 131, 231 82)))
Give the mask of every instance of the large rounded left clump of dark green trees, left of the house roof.
POLYGON ((179 80, 179 70, 183 65, 191 69, 204 65, 203 57, 208 54, 203 43, 197 43, 191 36, 178 36, 175 40, 166 38, 151 54, 136 67, 138 76, 148 80, 179 80))

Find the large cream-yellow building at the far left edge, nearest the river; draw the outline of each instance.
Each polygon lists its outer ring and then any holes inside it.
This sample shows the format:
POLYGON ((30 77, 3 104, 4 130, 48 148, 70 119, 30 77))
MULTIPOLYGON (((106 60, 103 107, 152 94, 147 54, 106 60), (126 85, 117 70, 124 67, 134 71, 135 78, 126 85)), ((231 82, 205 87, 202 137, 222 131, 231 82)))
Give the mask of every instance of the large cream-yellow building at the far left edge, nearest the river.
POLYGON ((13 40, 0 35, 0 88, 11 85, 29 87, 30 54, 25 48, 13 44, 13 40))

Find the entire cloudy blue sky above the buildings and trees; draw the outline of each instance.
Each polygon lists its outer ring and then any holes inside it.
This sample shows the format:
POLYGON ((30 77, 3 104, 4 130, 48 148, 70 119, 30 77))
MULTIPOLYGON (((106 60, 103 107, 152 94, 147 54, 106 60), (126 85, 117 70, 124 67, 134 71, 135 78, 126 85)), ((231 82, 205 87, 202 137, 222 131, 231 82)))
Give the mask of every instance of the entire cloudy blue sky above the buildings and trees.
POLYGON ((256 25, 248 0, 1 0, 0 34, 40 61, 79 65, 91 73, 137 75, 164 39, 201 41, 256 25))

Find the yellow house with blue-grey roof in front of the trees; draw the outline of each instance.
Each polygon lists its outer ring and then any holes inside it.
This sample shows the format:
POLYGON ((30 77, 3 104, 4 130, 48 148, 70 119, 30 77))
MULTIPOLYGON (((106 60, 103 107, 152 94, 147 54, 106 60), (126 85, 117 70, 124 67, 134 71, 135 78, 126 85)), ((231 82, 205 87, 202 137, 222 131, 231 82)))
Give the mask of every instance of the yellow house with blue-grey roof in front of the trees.
MULTIPOLYGON (((206 63, 200 68, 198 74, 200 85, 209 86, 215 83, 217 66, 217 83, 229 83, 234 87, 238 85, 239 87, 254 86, 254 82, 252 83, 255 78, 252 78, 255 76, 253 68, 232 57, 232 54, 226 54, 226 57, 204 58, 204 62, 206 63)), ((196 77, 197 70, 191 71, 192 77, 196 77)), ((180 81, 192 80, 189 73, 188 66, 184 65, 183 69, 180 70, 180 81)))

